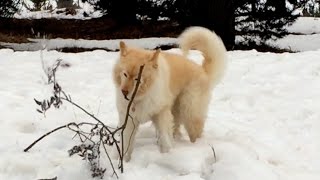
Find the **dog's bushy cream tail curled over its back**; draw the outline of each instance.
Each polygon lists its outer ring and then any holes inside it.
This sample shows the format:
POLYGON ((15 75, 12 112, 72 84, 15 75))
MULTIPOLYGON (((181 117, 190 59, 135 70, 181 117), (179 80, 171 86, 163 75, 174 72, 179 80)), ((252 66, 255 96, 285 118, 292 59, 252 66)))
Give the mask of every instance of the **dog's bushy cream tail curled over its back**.
POLYGON ((202 52, 202 67, 215 86, 222 76, 227 63, 227 50, 221 38, 204 27, 189 27, 178 38, 180 48, 186 56, 190 49, 202 52))

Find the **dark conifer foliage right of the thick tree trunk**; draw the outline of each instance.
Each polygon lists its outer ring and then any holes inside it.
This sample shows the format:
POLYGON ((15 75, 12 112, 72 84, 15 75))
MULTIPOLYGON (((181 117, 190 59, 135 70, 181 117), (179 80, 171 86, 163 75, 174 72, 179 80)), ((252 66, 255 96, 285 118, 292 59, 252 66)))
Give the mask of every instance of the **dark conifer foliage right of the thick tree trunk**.
MULTIPOLYGON (((295 2, 294 0, 292 1, 295 2)), ((286 26, 297 18, 286 0, 237 0, 236 31, 247 43, 264 43, 287 35, 286 26)))

